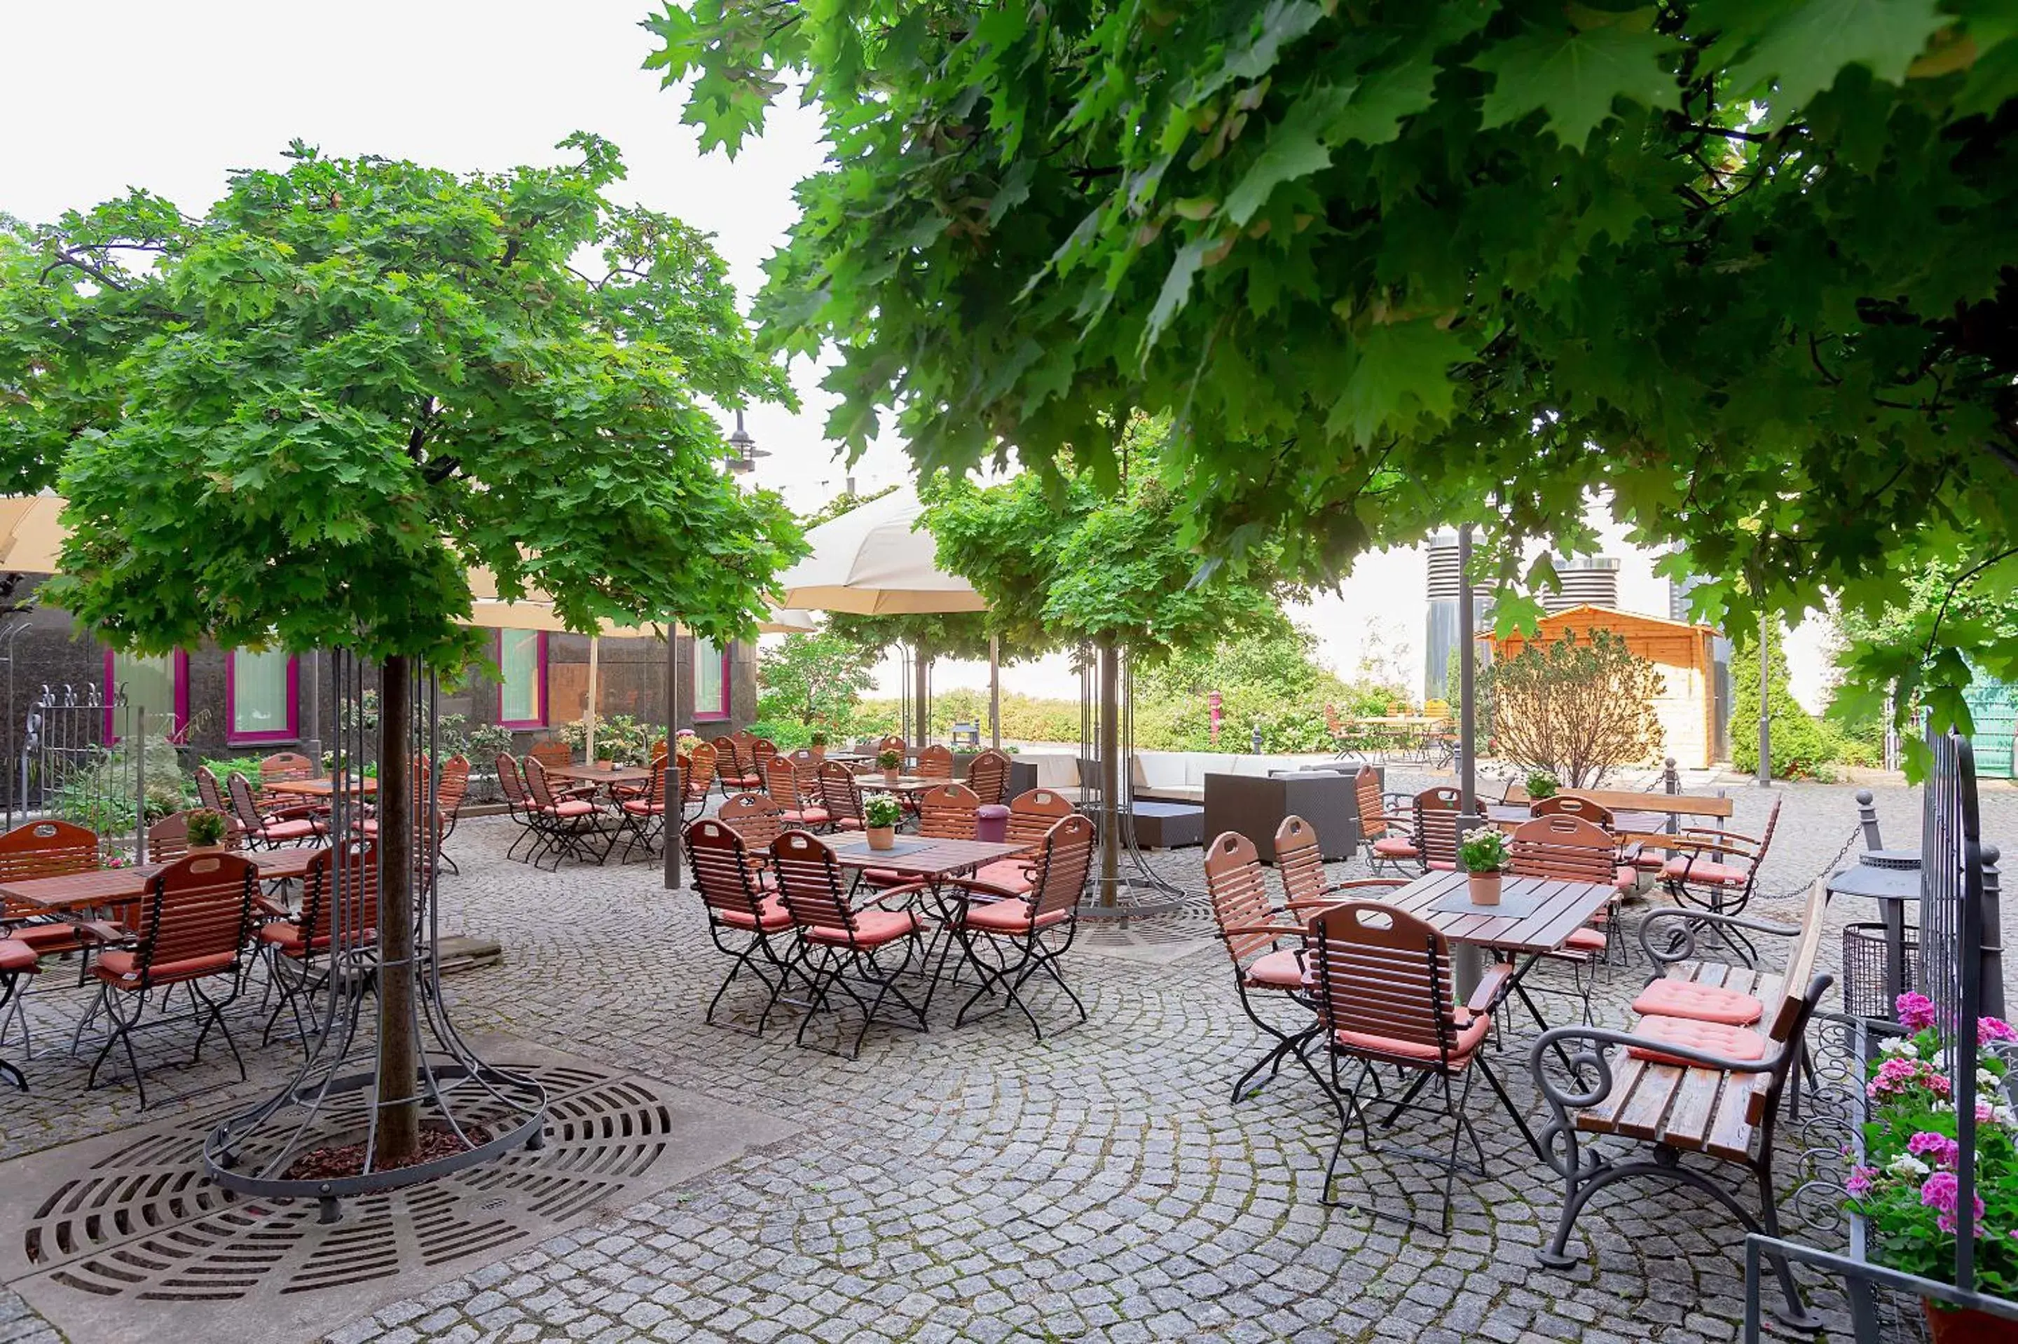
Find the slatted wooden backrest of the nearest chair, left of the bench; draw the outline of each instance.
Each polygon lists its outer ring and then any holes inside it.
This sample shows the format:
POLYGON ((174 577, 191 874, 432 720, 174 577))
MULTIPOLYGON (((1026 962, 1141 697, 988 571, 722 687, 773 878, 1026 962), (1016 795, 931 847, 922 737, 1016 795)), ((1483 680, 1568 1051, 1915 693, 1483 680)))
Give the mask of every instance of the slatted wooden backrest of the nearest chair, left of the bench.
POLYGON ((1449 1051, 1451 950, 1435 926, 1378 902, 1346 902, 1310 920, 1318 1021, 1449 1051))

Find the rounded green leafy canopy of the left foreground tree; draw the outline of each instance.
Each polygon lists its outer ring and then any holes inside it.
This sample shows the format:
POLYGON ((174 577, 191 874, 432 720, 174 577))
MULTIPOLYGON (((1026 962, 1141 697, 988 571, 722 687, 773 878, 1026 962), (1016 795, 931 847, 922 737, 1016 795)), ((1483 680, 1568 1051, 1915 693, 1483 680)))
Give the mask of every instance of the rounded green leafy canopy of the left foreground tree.
POLYGON ((69 494, 52 597, 109 642, 456 670, 468 569, 575 630, 747 632, 799 529, 698 398, 789 402, 706 238, 573 161, 295 145, 202 218, 143 192, 0 244, 6 470, 69 494))

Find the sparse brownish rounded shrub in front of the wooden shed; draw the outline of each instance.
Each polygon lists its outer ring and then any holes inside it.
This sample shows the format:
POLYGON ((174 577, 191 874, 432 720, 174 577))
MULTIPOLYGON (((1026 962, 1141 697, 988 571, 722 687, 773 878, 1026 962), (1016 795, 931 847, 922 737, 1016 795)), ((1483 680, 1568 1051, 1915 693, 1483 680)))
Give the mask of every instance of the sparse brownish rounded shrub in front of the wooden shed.
POLYGON ((1653 702, 1665 682, 1610 630, 1566 630, 1493 662, 1493 737, 1513 765, 1590 789, 1661 751, 1653 702))

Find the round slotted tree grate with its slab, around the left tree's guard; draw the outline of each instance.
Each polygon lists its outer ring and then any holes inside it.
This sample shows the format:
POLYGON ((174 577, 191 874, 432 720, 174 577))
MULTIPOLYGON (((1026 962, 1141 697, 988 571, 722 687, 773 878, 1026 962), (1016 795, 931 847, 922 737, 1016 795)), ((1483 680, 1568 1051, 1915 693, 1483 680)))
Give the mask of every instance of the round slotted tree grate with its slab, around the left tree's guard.
POLYGON ((337 1223, 212 1183, 200 1150, 222 1112, 22 1158, 0 1271, 71 1340, 307 1338, 791 1132, 535 1053, 515 1072, 551 1098, 545 1148, 359 1195, 337 1223))

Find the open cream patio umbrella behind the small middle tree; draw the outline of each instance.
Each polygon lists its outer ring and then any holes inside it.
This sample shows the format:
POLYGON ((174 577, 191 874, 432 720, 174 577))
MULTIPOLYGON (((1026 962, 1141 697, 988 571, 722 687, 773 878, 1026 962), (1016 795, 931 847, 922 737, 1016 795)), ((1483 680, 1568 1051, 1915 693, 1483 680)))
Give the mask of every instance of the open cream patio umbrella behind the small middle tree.
MULTIPOLYGON (((848 611, 854 615, 920 615, 987 611, 973 583, 938 567, 938 545, 918 527, 924 505, 910 486, 850 509, 805 535, 813 549, 783 573, 785 607, 848 611)), ((930 664, 918 670, 918 749, 924 749, 924 686, 930 664)), ((995 668, 989 678, 993 684, 995 668)))

